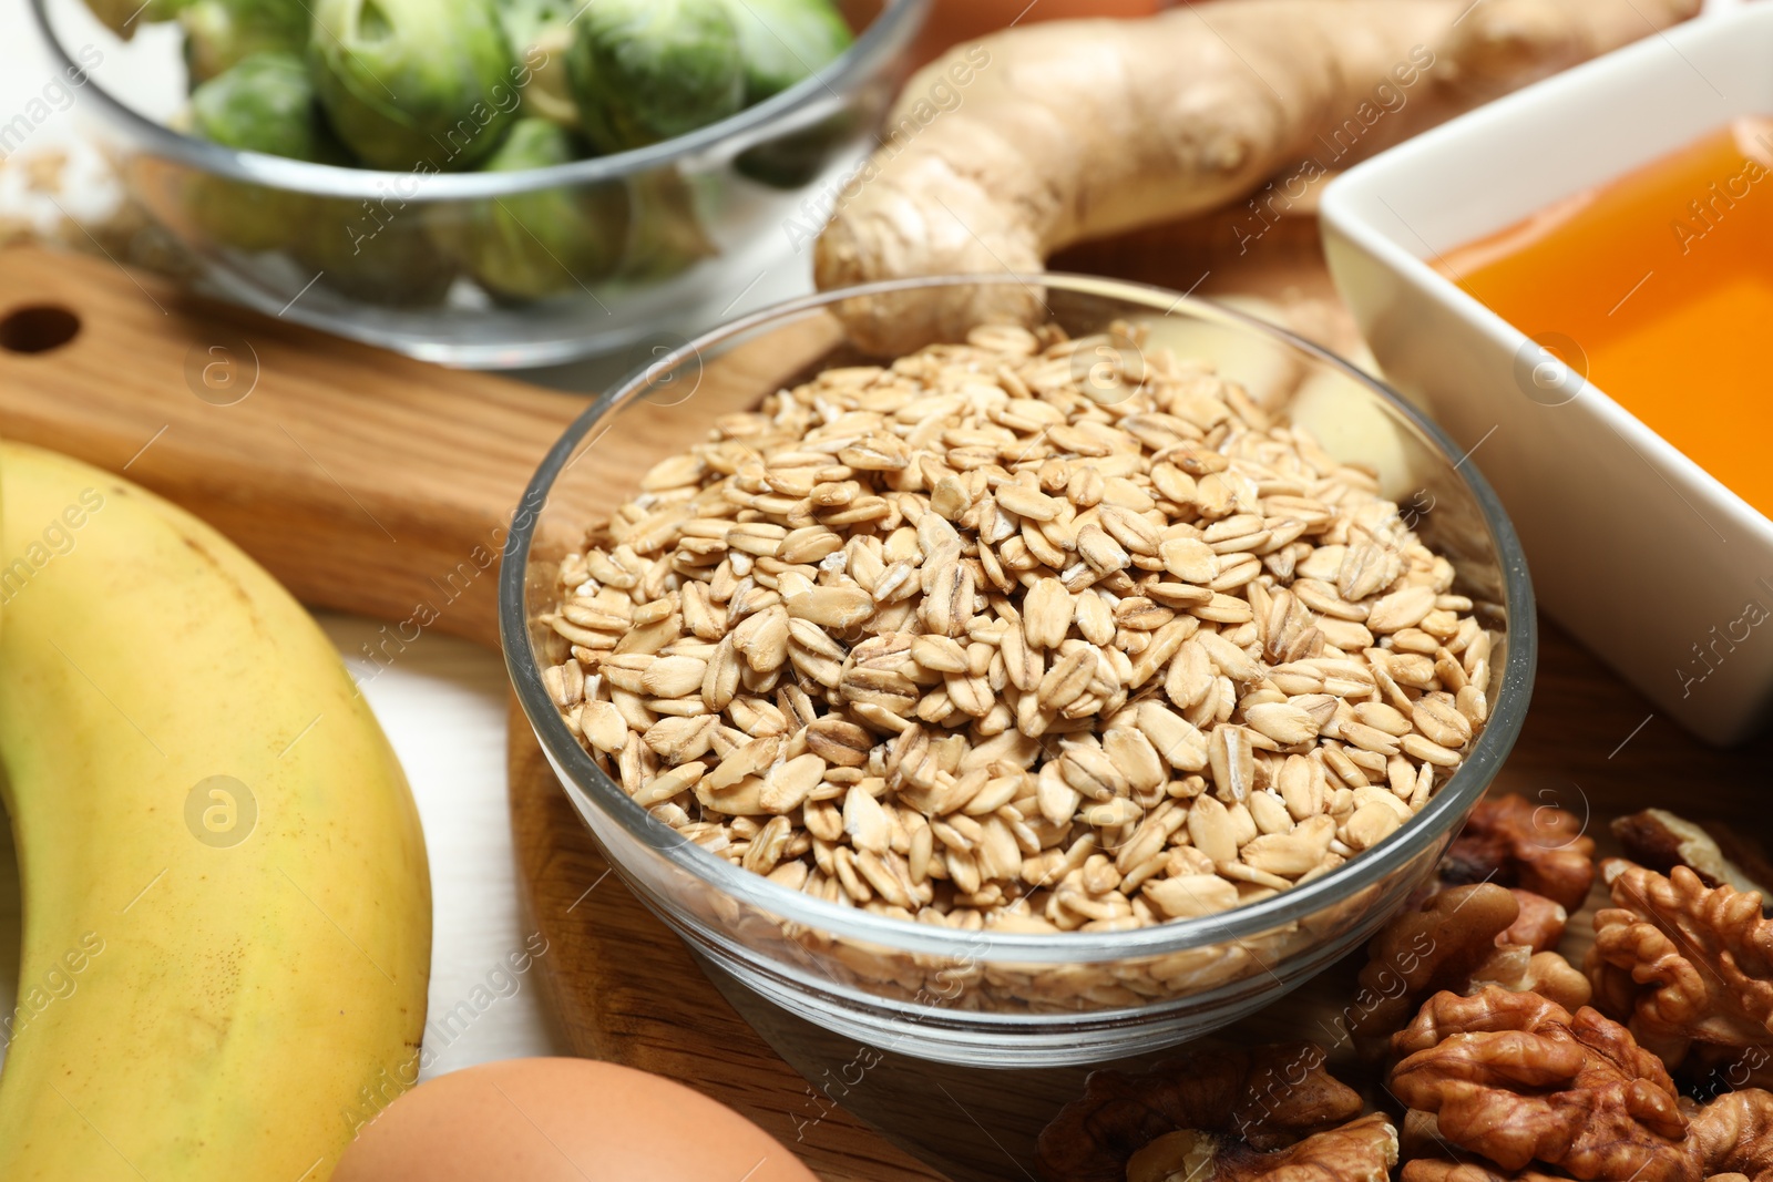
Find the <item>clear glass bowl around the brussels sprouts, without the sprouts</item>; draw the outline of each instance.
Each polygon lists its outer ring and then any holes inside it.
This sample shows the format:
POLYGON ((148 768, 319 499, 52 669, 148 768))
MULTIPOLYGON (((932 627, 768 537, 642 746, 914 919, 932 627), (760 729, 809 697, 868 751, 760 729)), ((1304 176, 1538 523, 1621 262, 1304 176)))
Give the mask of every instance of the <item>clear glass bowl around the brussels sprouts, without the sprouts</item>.
POLYGON ((500 174, 314 165, 181 135, 165 122, 183 101, 176 27, 124 44, 82 0, 30 7, 57 64, 85 69, 82 101, 128 191, 206 289, 431 362, 516 369, 665 353, 759 291, 808 291, 812 239, 878 145, 929 0, 844 0, 858 35, 842 57, 691 135, 500 174))

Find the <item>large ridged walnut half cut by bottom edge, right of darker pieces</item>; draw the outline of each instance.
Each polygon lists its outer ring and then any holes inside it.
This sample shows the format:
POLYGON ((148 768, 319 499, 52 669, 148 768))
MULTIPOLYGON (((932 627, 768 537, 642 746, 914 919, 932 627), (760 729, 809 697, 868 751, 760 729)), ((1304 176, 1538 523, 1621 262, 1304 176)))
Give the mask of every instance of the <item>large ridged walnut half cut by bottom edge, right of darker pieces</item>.
POLYGON ((1674 1083, 1631 1033, 1530 992, 1429 998, 1392 1040, 1390 1086, 1440 1136, 1505 1171, 1700 1182, 1674 1083), (1534 1164, 1539 1163, 1539 1164, 1534 1164))

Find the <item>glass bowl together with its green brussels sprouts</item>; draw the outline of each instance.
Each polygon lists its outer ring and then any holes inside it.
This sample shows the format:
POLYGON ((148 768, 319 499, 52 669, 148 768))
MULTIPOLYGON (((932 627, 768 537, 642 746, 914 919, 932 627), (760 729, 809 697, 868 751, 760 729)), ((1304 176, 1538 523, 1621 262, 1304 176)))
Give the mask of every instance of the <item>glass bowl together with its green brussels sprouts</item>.
POLYGON ((927 5, 30 0, 197 284, 480 369, 810 289, 927 5))

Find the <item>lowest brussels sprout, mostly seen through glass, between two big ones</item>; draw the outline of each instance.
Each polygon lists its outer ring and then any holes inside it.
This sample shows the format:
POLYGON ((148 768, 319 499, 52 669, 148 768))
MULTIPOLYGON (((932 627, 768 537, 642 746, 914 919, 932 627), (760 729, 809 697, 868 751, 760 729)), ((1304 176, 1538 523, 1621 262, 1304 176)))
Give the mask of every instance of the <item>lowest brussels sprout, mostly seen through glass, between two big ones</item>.
MULTIPOLYGON (((519 119, 488 172, 564 165, 583 156, 573 133, 519 119)), ((628 186, 562 186, 477 202, 440 230, 465 269, 500 299, 544 299, 608 278, 628 245, 628 186)))

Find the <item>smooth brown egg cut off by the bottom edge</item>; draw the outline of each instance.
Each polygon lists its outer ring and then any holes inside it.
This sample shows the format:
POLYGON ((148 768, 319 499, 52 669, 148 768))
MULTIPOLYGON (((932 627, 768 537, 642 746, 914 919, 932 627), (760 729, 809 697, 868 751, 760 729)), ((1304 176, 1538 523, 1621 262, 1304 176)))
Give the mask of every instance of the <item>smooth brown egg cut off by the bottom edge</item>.
POLYGON ((394 1100, 333 1182, 817 1182, 700 1092, 615 1063, 509 1060, 394 1100))

